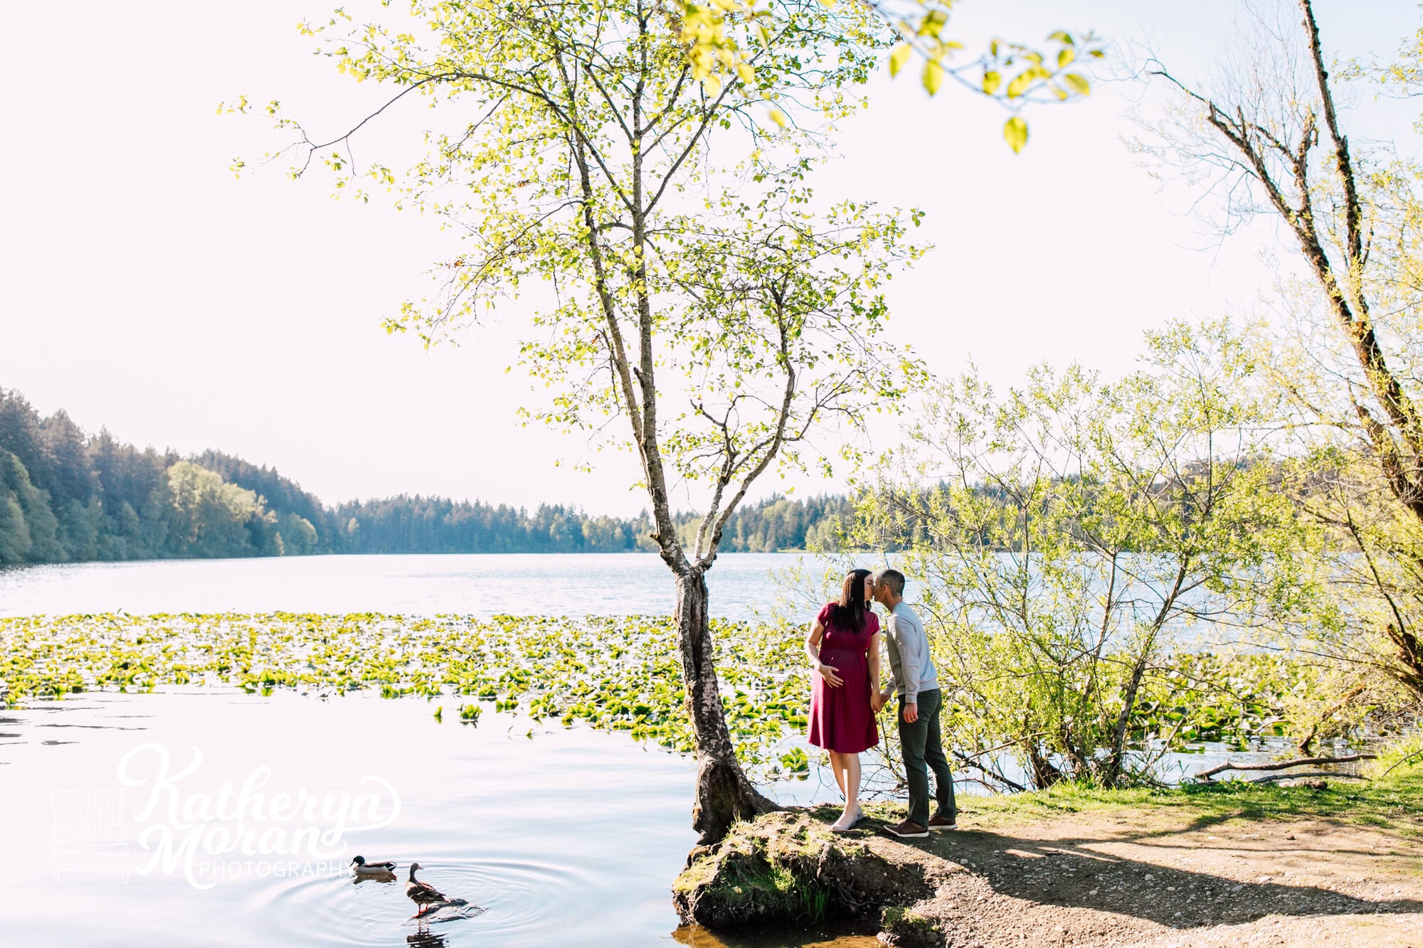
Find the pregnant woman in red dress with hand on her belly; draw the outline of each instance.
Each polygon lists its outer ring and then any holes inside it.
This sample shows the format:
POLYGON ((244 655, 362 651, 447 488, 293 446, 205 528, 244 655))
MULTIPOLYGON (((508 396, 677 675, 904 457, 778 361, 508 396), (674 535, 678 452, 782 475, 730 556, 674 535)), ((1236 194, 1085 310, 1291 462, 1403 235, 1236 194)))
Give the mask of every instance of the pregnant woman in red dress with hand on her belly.
POLYGON ((845 831, 864 818, 859 809, 859 752, 879 743, 869 707, 871 682, 879 682, 879 618, 869 611, 874 581, 851 569, 840 602, 828 602, 805 636, 810 655, 810 743, 830 752, 845 811, 830 827, 845 831))

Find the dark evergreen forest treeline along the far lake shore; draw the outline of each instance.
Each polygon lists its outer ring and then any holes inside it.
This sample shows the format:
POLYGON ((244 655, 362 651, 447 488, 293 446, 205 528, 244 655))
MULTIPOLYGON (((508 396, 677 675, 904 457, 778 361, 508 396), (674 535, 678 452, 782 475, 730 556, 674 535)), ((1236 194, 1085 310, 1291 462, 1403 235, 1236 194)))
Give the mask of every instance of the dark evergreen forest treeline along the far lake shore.
MULTIPOLYGON (((750 504, 727 524, 723 551, 834 548, 844 497, 750 504)), ((692 514, 679 531, 696 531, 692 514)), ((139 450, 88 434, 64 411, 41 417, 0 389, 0 564, 450 552, 655 549, 650 524, 578 507, 534 511, 443 497, 324 505, 275 468, 203 451, 139 450)))

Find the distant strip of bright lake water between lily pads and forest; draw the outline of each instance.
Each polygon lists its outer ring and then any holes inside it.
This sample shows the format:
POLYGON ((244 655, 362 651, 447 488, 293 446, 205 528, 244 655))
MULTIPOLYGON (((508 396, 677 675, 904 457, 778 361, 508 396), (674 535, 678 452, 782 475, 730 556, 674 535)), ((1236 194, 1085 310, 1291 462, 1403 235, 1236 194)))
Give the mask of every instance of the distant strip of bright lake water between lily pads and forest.
MULTIPOLYGON (((800 554, 721 554, 712 613, 763 613, 771 569, 800 554)), ((656 554, 270 557, 91 562, 0 569, 0 616, 80 612, 388 612, 656 615, 672 611, 656 554)))

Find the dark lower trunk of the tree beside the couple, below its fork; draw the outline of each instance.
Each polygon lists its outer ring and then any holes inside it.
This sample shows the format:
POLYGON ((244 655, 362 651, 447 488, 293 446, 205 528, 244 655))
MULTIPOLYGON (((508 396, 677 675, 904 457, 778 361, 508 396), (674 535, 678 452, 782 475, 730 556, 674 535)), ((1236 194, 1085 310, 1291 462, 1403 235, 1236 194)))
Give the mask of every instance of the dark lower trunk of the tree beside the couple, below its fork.
POLYGON ((778 809, 746 779, 726 726, 716 680, 716 649, 707 623, 707 582, 700 569, 677 574, 677 649, 687 689, 687 715, 697 743, 697 797, 692 828, 710 846, 737 820, 778 809))

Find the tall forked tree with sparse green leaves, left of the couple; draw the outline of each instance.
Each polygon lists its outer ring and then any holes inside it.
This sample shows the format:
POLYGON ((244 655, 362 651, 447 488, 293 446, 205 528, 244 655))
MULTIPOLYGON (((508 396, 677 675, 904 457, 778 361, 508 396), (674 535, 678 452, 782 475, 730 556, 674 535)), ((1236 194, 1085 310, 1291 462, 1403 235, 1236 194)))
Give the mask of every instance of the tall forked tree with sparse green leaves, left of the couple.
POLYGON ((408 28, 343 13, 307 27, 330 37, 323 50, 343 73, 398 87, 387 107, 421 93, 458 117, 428 134, 398 184, 384 165, 357 175, 349 159, 374 114, 320 142, 269 111, 297 132, 295 175, 320 157, 339 192, 367 196, 369 177, 467 236, 440 268, 440 295, 408 303, 391 332, 433 343, 495 296, 538 286, 522 362, 554 397, 532 414, 596 431, 639 461, 650 537, 677 588, 699 754, 693 824, 720 838, 773 804, 736 762, 704 574, 761 474, 808 464, 817 431, 857 428, 918 373, 881 340, 882 283, 918 253, 905 222, 855 204, 815 215, 804 184, 825 122, 858 104, 878 27, 859 7, 797 0, 768 40, 750 40, 754 75, 737 83, 776 90, 777 131, 733 84, 696 80, 680 23, 647 0, 417 1, 413 14, 408 28), (713 145, 743 162, 717 171, 736 161, 713 162, 713 145), (673 490, 703 485, 702 527, 684 544, 673 490))

